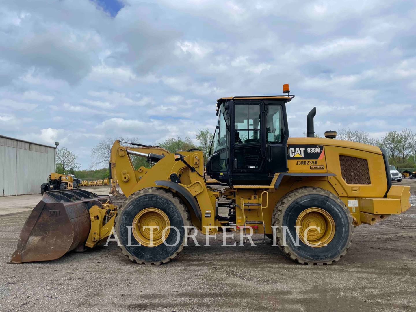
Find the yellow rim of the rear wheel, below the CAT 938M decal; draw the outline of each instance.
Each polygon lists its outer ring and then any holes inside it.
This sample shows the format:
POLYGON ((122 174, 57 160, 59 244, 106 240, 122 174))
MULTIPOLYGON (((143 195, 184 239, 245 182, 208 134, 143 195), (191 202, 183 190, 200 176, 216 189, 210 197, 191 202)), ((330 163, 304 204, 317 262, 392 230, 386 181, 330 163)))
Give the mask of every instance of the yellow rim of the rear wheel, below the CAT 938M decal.
POLYGON ((321 208, 303 210, 296 219, 296 227, 300 240, 315 248, 327 246, 335 235, 334 219, 321 208), (307 232, 307 241, 305 241, 305 232, 307 232))

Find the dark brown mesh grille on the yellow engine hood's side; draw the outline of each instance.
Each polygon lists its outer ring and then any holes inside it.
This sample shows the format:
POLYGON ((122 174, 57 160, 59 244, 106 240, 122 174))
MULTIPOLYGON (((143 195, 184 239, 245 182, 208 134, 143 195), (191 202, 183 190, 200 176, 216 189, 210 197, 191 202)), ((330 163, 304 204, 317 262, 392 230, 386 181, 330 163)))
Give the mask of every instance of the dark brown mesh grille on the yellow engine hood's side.
POLYGON ((371 184, 366 159, 339 155, 339 164, 342 178, 347 184, 371 184))

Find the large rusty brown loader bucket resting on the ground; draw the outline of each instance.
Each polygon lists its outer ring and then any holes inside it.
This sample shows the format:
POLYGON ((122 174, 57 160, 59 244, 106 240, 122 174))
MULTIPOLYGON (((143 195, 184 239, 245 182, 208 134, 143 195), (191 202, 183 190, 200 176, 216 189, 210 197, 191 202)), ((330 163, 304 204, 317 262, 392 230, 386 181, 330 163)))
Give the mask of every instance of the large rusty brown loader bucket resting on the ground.
POLYGON ((71 250, 85 250, 89 208, 107 201, 111 203, 108 195, 80 188, 45 192, 23 225, 10 263, 54 260, 71 250))

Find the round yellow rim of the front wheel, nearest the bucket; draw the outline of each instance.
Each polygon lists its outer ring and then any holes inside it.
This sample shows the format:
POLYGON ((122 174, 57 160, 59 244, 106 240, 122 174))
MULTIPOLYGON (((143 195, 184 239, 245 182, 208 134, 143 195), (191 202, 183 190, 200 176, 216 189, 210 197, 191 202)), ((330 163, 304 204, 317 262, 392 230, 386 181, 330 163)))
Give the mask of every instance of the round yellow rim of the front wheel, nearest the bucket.
POLYGON ((141 245, 154 247, 163 243, 168 237, 170 232, 168 227, 170 225, 168 216, 162 210, 145 208, 136 214, 131 229, 134 238, 141 245), (150 241, 151 238, 152 242, 150 241))

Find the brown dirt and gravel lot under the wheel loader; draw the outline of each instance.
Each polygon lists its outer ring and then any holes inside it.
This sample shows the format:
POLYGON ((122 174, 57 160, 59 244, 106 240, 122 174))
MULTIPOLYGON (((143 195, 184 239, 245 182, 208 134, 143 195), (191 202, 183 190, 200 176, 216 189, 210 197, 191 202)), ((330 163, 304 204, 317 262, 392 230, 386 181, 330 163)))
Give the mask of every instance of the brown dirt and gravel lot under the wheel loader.
MULTIPOLYGON (((0 216, 1 311, 416 311, 416 180, 412 207, 356 228, 335 265, 296 264, 277 247, 188 247, 136 265, 116 245, 7 264, 29 211, 0 216)), ((1 203, 0 203, 1 204, 1 203)), ((16 207, 21 208, 21 207, 16 207)), ((201 245, 203 236, 198 237, 201 245)), ((190 244, 192 245, 192 244, 190 244)))

